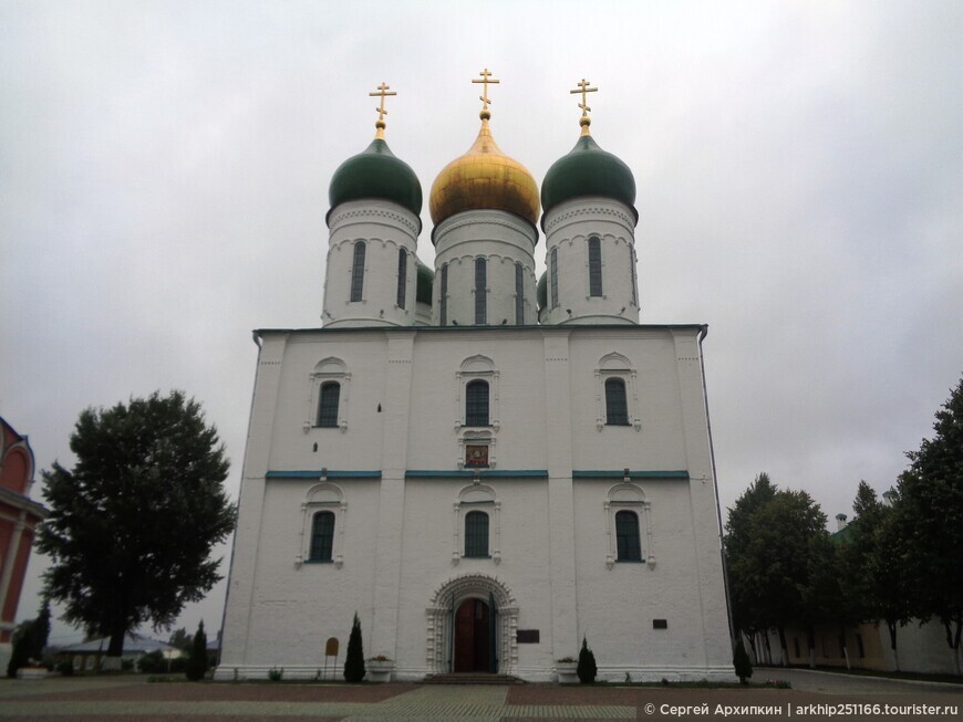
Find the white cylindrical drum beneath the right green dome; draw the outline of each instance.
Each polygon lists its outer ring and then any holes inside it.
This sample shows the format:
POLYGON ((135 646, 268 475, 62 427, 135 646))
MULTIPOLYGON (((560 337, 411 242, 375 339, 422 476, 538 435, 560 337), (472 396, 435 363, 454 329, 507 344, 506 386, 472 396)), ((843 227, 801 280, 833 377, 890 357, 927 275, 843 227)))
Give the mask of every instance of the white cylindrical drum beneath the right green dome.
POLYGON ((584 196, 559 203, 545 214, 548 306, 545 324, 639 323, 635 280, 635 217, 618 201, 584 196), (601 241, 602 295, 589 286, 588 239, 601 241), (551 253, 558 253, 558 305, 552 300, 551 253), (569 313, 571 312, 571 313, 569 313))

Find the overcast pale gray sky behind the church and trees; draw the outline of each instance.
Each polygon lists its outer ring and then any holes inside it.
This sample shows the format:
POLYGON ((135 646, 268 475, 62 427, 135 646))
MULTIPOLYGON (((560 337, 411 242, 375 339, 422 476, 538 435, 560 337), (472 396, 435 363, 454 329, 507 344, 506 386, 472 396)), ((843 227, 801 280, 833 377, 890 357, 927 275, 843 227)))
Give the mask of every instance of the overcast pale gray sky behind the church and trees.
MULTIPOLYGON (((0 415, 69 465, 85 407, 184 389, 236 496, 250 331, 320 325, 328 182, 373 136, 367 93, 397 91, 387 140, 427 198, 483 67, 539 184, 586 77, 635 174, 642 323, 710 325, 723 505, 767 471, 851 514, 963 373, 961 39, 955 0, 0 0, 0 415)), ((182 624, 216 630, 222 603, 182 624)))

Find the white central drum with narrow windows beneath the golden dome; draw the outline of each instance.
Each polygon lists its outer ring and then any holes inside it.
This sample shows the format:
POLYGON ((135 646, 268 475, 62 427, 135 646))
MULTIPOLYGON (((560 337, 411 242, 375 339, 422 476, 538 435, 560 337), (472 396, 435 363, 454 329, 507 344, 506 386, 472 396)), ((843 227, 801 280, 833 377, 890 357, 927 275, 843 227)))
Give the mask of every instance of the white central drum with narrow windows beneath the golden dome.
POLYGON ((489 326, 516 325, 516 263, 522 266, 524 324, 537 323, 535 244, 538 232, 525 219, 499 210, 468 210, 434 231, 434 325, 441 325, 442 268, 447 266, 447 323, 475 324, 475 259, 487 259, 486 307, 489 326))

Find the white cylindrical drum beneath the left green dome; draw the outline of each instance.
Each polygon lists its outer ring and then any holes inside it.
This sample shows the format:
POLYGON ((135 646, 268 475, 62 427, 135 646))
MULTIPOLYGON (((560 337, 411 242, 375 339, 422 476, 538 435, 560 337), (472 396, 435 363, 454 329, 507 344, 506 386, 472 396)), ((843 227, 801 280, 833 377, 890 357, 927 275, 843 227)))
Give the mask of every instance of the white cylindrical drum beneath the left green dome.
POLYGON ((331 210, 324 281, 325 326, 412 326, 416 321, 416 251, 421 221, 384 200, 352 200, 331 210), (351 301, 354 245, 365 243, 361 301, 351 301), (397 304, 398 249, 408 253, 404 308, 397 304))

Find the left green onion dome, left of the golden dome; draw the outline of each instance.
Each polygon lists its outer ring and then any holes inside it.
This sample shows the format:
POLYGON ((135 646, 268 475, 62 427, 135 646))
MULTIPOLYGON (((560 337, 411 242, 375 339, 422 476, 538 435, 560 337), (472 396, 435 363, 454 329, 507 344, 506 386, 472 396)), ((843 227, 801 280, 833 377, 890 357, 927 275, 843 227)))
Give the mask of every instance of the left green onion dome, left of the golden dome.
POLYGON ((376 137, 363 153, 342 163, 328 188, 331 208, 363 198, 390 200, 421 216, 422 185, 411 166, 396 158, 383 138, 376 137))

